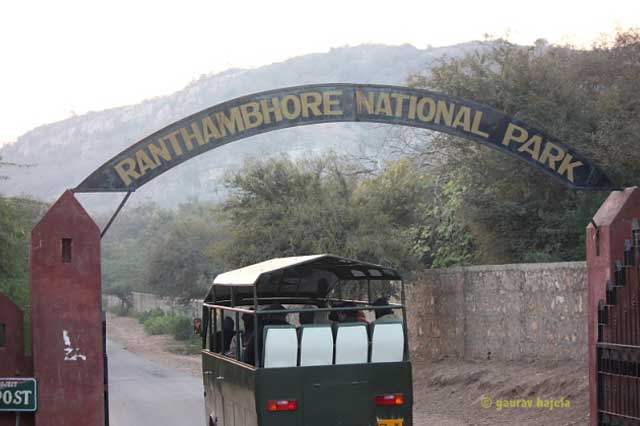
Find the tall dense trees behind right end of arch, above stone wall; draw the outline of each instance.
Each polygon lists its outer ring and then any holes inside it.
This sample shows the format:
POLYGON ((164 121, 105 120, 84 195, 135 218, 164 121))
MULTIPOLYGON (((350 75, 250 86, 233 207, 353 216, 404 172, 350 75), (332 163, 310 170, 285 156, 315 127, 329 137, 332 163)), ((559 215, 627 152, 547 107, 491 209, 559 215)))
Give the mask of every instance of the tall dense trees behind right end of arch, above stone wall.
MULTIPOLYGON (((633 135, 640 122, 640 44, 636 32, 590 51, 494 40, 444 59, 415 87, 493 106, 600 161, 617 182, 635 182, 633 135), (610 70, 606 70, 610 67, 610 70)), ((459 220, 471 230, 475 261, 501 263, 584 258, 584 228, 606 194, 566 189, 520 161, 448 135, 429 171, 460 188, 459 220)), ((443 186, 444 188, 444 186, 443 186)))

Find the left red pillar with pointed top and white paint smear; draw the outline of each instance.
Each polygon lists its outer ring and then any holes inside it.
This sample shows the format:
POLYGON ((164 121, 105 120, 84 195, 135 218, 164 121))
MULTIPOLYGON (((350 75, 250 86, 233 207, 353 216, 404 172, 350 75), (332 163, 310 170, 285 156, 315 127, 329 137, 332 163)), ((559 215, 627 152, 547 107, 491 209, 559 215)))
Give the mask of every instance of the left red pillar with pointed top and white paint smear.
POLYGON ((70 191, 31 232, 38 426, 103 426, 100 230, 70 191))

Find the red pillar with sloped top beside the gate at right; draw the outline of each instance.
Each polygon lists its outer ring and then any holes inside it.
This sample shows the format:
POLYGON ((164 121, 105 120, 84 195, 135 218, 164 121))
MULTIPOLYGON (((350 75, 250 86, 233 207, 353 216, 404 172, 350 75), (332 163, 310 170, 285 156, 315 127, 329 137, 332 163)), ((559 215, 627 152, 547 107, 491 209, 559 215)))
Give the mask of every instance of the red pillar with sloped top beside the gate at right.
POLYGON ((640 218, 640 189, 612 192, 587 227, 589 288, 589 402, 590 425, 597 425, 598 303, 606 299, 608 280, 614 279, 614 262, 624 259, 624 241, 631 238, 631 223, 640 218))

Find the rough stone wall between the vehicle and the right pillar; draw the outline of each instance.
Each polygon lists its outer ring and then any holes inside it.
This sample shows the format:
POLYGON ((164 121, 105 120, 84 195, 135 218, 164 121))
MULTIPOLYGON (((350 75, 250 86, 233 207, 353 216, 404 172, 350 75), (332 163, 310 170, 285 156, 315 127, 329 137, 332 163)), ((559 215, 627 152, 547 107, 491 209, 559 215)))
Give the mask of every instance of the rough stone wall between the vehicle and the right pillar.
POLYGON ((587 362, 584 262, 428 270, 408 280, 411 349, 430 358, 587 362))

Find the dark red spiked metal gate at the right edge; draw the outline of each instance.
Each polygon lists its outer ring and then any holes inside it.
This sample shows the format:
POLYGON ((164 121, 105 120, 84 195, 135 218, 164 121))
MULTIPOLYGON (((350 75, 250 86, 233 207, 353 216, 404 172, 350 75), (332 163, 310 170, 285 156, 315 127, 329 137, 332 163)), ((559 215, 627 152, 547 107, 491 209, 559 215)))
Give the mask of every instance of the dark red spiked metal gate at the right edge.
POLYGON ((594 366, 597 411, 591 424, 595 420, 598 426, 640 426, 640 222, 629 216, 632 213, 639 217, 638 202, 634 200, 640 194, 636 188, 631 192, 632 196, 624 201, 634 208, 626 213, 620 209, 610 216, 603 244, 599 241, 603 235, 595 222, 592 226, 595 232, 591 233, 596 256, 610 261, 608 266, 600 265, 606 271, 600 277, 607 279, 600 281, 597 301, 594 366))

